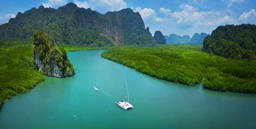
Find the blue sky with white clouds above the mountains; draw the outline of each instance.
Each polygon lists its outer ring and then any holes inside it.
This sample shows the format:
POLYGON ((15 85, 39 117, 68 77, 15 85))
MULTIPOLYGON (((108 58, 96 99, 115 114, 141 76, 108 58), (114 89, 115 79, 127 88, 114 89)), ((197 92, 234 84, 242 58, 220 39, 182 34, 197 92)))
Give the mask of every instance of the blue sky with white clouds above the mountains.
POLYGON ((220 25, 256 24, 255 0, 0 0, 0 24, 8 23, 20 11, 24 13, 40 5, 57 9, 69 2, 80 8, 91 8, 100 13, 131 8, 140 12, 150 32, 161 31, 189 35, 209 33, 220 25))

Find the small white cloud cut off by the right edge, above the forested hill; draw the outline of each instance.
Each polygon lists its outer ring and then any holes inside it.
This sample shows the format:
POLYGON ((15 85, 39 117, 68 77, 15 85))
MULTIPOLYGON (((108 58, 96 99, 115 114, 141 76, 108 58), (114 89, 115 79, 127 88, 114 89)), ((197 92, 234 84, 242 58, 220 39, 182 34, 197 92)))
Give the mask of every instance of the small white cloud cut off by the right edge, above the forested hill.
POLYGON ((238 18, 238 20, 241 23, 251 23, 251 24, 256 24, 256 12, 254 9, 252 9, 250 12, 242 13, 242 15, 238 18))

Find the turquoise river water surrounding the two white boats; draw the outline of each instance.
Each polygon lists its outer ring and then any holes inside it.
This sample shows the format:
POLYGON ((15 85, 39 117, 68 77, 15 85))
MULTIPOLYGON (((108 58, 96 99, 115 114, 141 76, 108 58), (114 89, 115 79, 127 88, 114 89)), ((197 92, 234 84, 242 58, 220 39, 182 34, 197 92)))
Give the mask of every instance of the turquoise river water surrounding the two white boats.
POLYGON ((45 76, 30 92, 5 99, 0 128, 256 128, 255 94, 158 80, 102 52, 70 52, 75 76, 45 76), (124 75, 134 106, 127 111, 114 104, 123 96, 124 75), (100 91, 93 89, 96 77, 100 91))

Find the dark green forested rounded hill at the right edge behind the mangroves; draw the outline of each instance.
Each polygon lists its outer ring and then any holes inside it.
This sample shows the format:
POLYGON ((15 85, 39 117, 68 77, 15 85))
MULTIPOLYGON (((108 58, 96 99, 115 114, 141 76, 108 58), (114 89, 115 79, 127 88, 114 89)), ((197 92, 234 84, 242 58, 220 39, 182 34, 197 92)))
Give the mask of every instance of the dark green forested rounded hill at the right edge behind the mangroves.
POLYGON ((204 40, 203 51, 227 59, 256 59, 256 25, 219 26, 204 40))

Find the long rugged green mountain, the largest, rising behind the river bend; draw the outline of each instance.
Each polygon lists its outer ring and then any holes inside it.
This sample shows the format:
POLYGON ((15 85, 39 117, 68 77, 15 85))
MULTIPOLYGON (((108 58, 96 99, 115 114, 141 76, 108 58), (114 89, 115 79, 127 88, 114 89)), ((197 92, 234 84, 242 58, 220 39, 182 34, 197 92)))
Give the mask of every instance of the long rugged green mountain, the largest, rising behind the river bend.
POLYGON ((29 39, 34 30, 44 30, 56 44, 77 46, 154 45, 139 12, 132 9, 102 15, 68 3, 58 9, 32 8, 18 12, 0 25, 0 38, 29 39))

